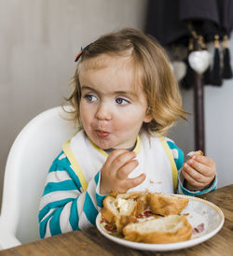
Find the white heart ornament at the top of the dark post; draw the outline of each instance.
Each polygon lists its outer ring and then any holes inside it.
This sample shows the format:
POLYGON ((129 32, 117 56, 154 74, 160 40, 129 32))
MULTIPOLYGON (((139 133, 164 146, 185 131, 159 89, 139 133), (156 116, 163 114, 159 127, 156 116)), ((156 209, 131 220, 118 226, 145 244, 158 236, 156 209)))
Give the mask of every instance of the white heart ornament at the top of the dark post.
POLYGON ((203 74, 211 63, 208 50, 195 50, 188 55, 188 63, 199 75, 203 74))

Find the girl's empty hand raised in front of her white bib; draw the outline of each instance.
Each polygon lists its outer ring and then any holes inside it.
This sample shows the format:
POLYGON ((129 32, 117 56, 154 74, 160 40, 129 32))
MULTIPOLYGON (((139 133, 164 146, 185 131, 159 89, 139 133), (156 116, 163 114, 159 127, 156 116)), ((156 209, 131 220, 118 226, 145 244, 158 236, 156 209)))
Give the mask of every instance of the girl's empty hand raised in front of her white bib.
POLYGON ((136 153, 127 149, 116 149, 107 158, 101 170, 100 193, 127 192, 144 181, 145 174, 128 178, 138 166, 136 153))

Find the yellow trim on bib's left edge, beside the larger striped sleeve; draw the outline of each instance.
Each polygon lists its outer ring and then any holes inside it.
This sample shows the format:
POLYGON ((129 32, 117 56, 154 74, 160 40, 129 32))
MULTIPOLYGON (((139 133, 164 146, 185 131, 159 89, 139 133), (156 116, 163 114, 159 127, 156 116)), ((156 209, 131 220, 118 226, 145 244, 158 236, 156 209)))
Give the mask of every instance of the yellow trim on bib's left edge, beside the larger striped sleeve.
POLYGON ((79 181, 81 183, 81 186, 83 188, 83 191, 87 191, 88 189, 88 182, 83 174, 83 171, 80 167, 80 165, 77 163, 76 159, 75 159, 75 155, 73 154, 72 150, 70 149, 70 139, 67 140, 63 146, 62 146, 63 151, 65 152, 66 156, 68 157, 70 163, 72 164, 74 170, 75 170, 75 174, 77 175, 77 177, 79 178, 79 181))

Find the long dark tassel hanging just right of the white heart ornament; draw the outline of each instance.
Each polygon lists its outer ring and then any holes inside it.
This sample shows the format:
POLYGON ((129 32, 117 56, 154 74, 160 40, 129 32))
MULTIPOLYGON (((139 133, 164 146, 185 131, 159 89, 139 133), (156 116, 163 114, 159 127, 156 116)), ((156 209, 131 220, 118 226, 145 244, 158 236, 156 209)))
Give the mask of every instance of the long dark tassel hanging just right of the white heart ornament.
POLYGON ((221 86, 223 83, 220 69, 219 36, 214 36, 214 55, 212 65, 212 85, 221 86))

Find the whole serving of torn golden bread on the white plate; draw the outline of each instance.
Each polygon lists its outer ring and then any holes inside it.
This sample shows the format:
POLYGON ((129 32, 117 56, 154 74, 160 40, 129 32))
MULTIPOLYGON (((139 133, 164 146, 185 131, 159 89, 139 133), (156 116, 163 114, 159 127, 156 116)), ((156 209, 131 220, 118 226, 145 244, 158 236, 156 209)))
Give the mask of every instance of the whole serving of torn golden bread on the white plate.
POLYGON ((112 192, 103 200, 102 223, 110 234, 144 243, 184 241, 192 226, 180 215, 188 199, 161 192, 112 192))

